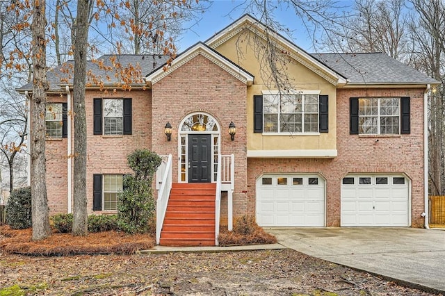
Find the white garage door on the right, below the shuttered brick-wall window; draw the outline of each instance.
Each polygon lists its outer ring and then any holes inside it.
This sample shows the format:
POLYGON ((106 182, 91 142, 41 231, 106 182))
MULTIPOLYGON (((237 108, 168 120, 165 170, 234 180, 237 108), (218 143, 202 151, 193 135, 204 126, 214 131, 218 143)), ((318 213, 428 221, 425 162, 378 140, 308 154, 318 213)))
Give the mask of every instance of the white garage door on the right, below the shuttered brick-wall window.
POLYGON ((341 182, 341 226, 408 226, 408 179, 403 175, 349 175, 341 182))

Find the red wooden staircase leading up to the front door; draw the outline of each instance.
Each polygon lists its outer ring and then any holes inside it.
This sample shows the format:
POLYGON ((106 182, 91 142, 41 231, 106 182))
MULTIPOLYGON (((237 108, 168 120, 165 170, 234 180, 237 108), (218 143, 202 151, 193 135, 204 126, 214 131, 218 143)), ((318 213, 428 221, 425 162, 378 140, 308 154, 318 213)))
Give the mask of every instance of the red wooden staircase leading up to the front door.
POLYGON ((215 183, 173 183, 159 245, 215 245, 215 194, 215 183))

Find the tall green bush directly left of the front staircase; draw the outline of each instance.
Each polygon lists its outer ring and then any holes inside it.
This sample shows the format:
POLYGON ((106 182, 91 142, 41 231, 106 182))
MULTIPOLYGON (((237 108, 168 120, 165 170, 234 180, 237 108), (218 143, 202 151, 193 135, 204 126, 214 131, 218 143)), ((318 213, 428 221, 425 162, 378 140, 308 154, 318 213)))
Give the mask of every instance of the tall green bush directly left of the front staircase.
POLYGON ((119 195, 118 225, 127 233, 146 233, 156 209, 152 178, 162 158, 148 149, 137 149, 127 156, 133 175, 124 176, 119 195))

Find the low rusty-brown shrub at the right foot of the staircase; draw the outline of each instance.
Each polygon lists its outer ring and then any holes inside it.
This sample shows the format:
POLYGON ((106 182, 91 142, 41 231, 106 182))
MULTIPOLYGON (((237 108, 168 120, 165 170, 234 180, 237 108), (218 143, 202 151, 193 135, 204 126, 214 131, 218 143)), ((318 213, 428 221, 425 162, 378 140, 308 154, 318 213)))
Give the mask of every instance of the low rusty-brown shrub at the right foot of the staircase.
POLYGON ((273 244, 277 242, 277 238, 259 227, 254 217, 244 215, 235 220, 233 231, 228 231, 227 227, 221 227, 218 241, 222 246, 256 245, 273 244))

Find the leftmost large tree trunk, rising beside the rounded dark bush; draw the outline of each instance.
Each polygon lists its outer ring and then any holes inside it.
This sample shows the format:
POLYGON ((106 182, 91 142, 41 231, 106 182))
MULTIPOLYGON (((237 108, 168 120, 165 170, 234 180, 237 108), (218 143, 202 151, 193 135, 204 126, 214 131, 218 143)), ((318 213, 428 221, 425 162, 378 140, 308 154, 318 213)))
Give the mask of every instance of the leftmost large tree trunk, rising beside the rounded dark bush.
POLYGON ((50 233, 47 185, 45 180, 45 103, 47 101, 47 53, 45 1, 33 2, 33 97, 31 99, 31 192, 33 240, 50 233))

